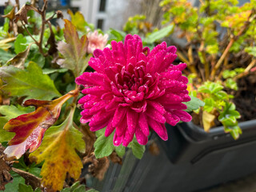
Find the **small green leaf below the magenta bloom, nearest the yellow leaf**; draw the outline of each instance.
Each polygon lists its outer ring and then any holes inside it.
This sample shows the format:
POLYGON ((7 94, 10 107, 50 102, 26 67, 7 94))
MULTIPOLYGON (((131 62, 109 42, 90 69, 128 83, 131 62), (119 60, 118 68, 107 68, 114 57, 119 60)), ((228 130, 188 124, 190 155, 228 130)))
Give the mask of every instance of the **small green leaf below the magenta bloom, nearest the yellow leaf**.
MULTIPOLYGON (((110 134, 109 137, 105 137, 105 134, 102 134, 105 129, 100 130, 101 135, 96 139, 96 142, 94 142, 94 153, 96 158, 104 158, 106 156, 109 156, 112 154, 114 150, 114 144, 113 144, 113 138, 114 138, 114 133, 110 134)), ((96 135, 99 133, 97 133, 96 135)))

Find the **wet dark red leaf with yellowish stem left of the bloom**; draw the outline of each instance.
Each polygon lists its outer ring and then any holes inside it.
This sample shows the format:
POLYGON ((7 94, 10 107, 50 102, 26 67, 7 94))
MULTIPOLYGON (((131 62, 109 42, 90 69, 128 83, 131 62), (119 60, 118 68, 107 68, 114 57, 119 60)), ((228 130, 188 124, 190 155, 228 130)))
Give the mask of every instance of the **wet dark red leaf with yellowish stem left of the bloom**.
POLYGON ((58 119, 64 102, 76 94, 78 94, 78 90, 70 91, 53 101, 29 99, 24 102, 24 106, 35 106, 36 110, 12 118, 6 123, 4 129, 14 132, 15 136, 8 143, 9 146, 6 148, 5 154, 8 157, 20 158, 26 150, 33 152, 38 149, 46 130, 58 119))

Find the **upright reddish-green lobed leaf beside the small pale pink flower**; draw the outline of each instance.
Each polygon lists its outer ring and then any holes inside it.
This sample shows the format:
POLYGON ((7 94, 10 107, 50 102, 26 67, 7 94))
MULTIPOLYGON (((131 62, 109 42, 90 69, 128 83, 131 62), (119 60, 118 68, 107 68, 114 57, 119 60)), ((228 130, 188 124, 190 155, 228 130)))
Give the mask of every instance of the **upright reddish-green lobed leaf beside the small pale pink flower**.
POLYGON ((64 59, 58 59, 58 65, 72 70, 75 77, 81 75, 86 67, 90 56, 86 57, 88 41, 86 35, 78 37, 76 27, 68 20, 65 21, 64 37, 65 42, 58 42, 58 50, 64 59))

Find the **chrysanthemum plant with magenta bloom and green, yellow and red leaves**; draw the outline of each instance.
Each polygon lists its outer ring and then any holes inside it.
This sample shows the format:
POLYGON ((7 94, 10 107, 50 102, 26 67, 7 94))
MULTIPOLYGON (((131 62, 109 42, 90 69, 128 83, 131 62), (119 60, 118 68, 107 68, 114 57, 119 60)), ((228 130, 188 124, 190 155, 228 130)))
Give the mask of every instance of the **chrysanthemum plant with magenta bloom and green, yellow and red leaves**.
POLYGON ((82 171, 101 180, 127 148, 142 158, 150 132, 167 140, 165 122, 190 121, 202 102, 188 95, 186 64, 172 64, 176 47, 153 44, 159 31, 150 49, 110 30, 108 47, 80 12, 67 20, 47 3, 7 2, 2 16, 0 190, 95 191, 82 171))

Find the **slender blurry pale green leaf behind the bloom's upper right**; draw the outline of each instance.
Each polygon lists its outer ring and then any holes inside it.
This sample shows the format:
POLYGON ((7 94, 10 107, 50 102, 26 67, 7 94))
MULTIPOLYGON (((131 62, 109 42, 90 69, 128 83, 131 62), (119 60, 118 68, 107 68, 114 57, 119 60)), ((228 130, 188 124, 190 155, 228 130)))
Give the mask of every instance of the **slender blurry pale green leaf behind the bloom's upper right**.
POLYGON ((166 26, 166 27, 162 28, 161 30, 158 30, 158 31, 150 34, 149 36, 147 36, 143 42, 151 44, 161 38, 165 38, 167 35, 169 35, 173 31, 174 31, 174 25, 166 26))

